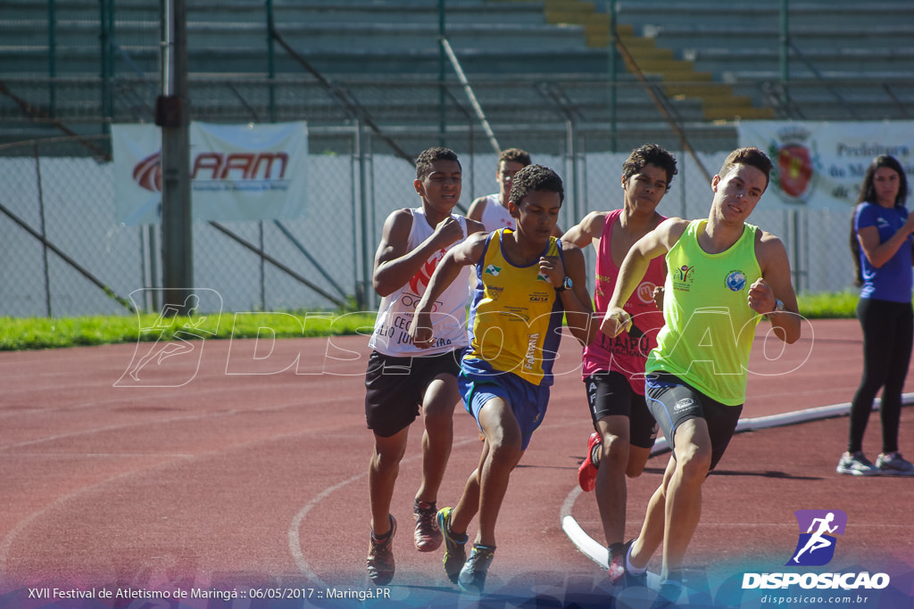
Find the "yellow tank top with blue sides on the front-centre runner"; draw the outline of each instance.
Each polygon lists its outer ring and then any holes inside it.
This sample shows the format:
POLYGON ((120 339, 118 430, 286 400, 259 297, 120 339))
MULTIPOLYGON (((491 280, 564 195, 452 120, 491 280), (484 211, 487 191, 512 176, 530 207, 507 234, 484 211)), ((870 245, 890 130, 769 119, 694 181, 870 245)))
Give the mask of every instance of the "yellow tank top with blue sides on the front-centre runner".
MULTIPOLYGON (((539 272, 539 260, 515 267, 505 257, 502 240, 510 228, 485 239, 476 264, 476 289, 463 360, 494 373, 515 373, 535 385, 552 384, 552 363, 561 339, 564 309, 555 287, 539 272)), ((562 256, 558 239, 549 237, 543 256, 562 256)))

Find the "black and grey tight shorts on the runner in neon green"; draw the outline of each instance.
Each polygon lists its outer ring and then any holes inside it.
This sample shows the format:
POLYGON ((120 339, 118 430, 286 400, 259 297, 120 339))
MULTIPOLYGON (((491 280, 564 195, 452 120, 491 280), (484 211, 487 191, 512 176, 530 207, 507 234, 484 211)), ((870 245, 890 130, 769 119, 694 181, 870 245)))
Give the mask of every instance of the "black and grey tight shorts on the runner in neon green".
POLYGON ((711 469, 714 469, 737 429, 742 404, 721 404, 668 373, 648 374, 645 385, 647 406, 671 448, 675 447, 675 431, 683 421, 705 419, 711 437, 711 469))

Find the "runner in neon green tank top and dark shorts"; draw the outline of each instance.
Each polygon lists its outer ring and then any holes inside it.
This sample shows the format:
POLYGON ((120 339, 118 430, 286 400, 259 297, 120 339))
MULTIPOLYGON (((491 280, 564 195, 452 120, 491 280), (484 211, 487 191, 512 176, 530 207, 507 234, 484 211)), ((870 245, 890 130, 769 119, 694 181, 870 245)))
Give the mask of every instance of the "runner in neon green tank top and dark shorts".
POLYGON ((661 595, 675 602, 701 514, 701 485, 736 429, 755 325, 765 315, 781 341, 800 338, 801 317, 787 251, 746 219, 768 187, 771 160, 758 148, 731 152, 711 181, 707 220, 669 218, 622 262, 600 330, 631 327, 622 305, 652 258, 666 256, 665 327, 647 364, 648 405, 673 455, 626 556, 637 575, 663 544, 661 595))

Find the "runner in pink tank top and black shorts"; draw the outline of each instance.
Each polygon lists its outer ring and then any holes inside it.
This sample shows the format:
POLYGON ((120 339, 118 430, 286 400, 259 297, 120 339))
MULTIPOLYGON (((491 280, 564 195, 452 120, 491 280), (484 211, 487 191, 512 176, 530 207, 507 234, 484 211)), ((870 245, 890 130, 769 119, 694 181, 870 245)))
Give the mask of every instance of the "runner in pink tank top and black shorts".
MULTIPOLYGON (((622 164, 622 209, 592 212, 562 240, 597 251, 595 309, 606 312, 622 260, 634 243, 665 218, 656 208, 676 173, 672 154, 655 144, 635 149, 622 164)), ((651 262, 641 284, 625 304, 632 331, 609 337, 598 331, 584 350, 582 373, 590 416, 597 430, 590 436, 587 457, 578 472, 580 487, 596 490, 606 534, 610 580, 625 575, 625 476, 641 475, 657 435, 654 417, 644 402, 644 364, 657 344, 663 313, 654 303, 654 290, 663 289, 663 258, 651 262)))

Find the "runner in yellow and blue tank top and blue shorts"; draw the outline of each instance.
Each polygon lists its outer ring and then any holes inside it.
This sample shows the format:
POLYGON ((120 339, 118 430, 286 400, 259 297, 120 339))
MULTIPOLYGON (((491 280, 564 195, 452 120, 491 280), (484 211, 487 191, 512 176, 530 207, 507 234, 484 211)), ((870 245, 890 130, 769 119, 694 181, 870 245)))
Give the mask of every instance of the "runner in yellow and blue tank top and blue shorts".
POLYGON ((435 299, 461 268, 475 265, 479 286, 459 383, 484 434, 483 453, 457 506, 438 512, 444 571, 470 593, 483 592, 508 479, 546 413, 562 313, 575 338, 583 344, 592 338, 584 255, 552 236, 563 198, 561 178, 551 169, 529 165, 517 172, 508 200, 516 230, 471 236, 453 247, 431 276, 410 331, 415 345, 434 344, 435 299), (466 530, 477 512, 479 530, 467 558, 466 530))

